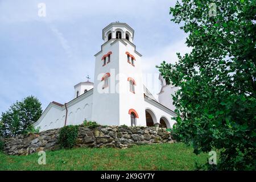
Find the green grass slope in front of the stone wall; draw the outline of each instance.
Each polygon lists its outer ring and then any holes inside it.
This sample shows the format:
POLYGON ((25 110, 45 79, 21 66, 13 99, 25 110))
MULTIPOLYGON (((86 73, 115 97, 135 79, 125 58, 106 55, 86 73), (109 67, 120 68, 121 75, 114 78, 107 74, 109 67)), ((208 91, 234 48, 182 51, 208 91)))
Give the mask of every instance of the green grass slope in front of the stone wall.
POLYGON ((11 156, 0 153, 0 170, 195 170, 207 162, 183 143, 134 146, 127 149, 73 148, 47 151, 46 165, 38 154, 11 156))

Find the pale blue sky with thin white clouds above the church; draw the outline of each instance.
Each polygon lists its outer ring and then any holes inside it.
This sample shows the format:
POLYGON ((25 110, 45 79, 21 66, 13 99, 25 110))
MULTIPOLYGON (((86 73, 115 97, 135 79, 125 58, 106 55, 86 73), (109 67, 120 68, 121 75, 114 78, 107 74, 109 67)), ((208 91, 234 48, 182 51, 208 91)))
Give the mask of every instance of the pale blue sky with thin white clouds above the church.
MULTIPOLYGON (((173 62, 185 53, 185 34, 170 21, 175 1, 0 0, 0 113, 16 100, 33 95, 43 109, 51 101, 72 100, 73 86, 93 81, 94 54, 103 43, 102 29, 119 21, 135 30, 134 44, 143 55, 143 73, 173 62), (38 16, 46 4, 46 17, 38 16)), ((148 86, 156 96, 159 82, 148 86)))

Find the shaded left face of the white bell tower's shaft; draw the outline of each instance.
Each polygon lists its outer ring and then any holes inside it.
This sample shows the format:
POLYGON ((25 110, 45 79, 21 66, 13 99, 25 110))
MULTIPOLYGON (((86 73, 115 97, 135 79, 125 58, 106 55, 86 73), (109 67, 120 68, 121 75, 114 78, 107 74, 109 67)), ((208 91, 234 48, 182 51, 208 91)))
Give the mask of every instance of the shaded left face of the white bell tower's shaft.
POLYGON ((95 60, 92 120, 101 125, 119 125, 119 94, 115 92, 119 89, 115 79, 115 74, 119 72, 119 43, 111 44, 113 41, 102 45, 102 51, 96 55, 95 60), (109 51, 112 51, 110 63, 102 67, 102 56, 109 51), (109 86, 102 89, 104 81, 101 78, 105 73, 110 73, 109 86))

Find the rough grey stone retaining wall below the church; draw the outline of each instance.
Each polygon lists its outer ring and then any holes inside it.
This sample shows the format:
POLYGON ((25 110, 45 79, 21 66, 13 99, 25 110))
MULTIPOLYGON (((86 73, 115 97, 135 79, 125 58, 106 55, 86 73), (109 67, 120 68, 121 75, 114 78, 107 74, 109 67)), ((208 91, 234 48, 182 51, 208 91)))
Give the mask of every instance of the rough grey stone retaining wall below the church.
MULTIPOLYGON (((53 129, 5 139, 4 152, 9 155, 28 155, 42 150, 58 150, 59 133, 60 129, 53 129)), ((171 134, 165 128, 98 126, 90 129, 80 125, 75 147, 126 148, 134 144, 172 142, 171 134)))

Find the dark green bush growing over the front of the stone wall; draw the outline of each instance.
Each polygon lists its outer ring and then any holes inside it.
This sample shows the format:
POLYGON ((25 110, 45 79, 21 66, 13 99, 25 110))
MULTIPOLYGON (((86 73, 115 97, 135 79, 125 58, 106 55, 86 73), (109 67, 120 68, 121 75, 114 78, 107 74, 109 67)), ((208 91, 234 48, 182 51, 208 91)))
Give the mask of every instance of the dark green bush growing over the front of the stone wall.
POLYGON ((78 126, 64 126, 60 129, 59 143, 61 147, 72 148, 76 144, 78 126))

